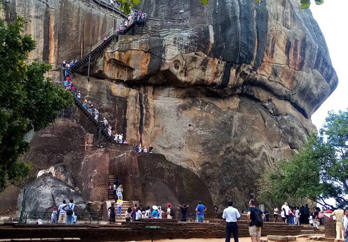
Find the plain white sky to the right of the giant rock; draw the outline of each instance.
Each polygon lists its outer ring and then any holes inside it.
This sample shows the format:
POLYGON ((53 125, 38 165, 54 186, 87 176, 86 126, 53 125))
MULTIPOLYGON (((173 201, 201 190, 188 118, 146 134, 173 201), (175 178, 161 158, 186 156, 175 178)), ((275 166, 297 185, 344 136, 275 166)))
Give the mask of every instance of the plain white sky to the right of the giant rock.
POLYGON ((336 90, 312 116, 312 122, 319 131, 328 111, 348 109, 348 82, 345 73, 348 66, 347 8, 344 5, 346 0, 325 0, 322 5, 316 5, 314 0, 311 1, 310 9, 325 36, 331 61, 339 77, 336 90))

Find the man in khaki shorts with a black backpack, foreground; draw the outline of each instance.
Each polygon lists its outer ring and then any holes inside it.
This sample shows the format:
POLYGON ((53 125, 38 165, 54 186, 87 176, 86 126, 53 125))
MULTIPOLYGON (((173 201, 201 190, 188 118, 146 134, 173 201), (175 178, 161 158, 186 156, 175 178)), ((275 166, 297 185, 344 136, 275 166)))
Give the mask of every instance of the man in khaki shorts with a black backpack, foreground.
POLYGON ((260 242, 263 218, 264 214, 259 208, 255 207, 255 200, 251 199, 249 201, 247 219, 252 242, 260 242))

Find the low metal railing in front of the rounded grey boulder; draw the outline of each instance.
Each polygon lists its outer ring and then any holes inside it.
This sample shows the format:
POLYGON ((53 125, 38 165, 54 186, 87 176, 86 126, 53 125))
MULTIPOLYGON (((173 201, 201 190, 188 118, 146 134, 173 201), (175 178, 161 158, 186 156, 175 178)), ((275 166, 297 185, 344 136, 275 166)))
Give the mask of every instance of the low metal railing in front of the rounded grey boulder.
MULTIPOLYGON (((43 222, 47 220, 47 224, 52 223, 52 212, 34 212, 34 211, 24 211, 21 213, 21 217, 19 218, 19 222, 26 224, 28 220, 34 221, 41 219, 43 222)), ((77 216, 77 220, 79 221, 88 221, 89 224, 92 223, 92 221, 97 220, 97 224, 99 224, 99 213, 98 212, 82 212, 82 213, 75 213, 77 216)), ((59 213, 56 214, 56 222, 58 222, 59 213)))

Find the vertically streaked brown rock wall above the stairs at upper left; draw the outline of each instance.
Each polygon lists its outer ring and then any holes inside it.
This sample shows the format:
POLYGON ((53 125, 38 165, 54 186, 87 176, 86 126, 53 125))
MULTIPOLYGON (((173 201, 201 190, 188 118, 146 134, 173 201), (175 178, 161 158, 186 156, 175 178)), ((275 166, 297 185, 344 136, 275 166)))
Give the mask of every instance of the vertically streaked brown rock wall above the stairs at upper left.
POLYGON ((25 32, 36 40, 29 59, 58 65, 70 63, 123 21, 119 13, 92 0, 10 0, 8 6, 3 17, 23 16, 28 21, 25 32))

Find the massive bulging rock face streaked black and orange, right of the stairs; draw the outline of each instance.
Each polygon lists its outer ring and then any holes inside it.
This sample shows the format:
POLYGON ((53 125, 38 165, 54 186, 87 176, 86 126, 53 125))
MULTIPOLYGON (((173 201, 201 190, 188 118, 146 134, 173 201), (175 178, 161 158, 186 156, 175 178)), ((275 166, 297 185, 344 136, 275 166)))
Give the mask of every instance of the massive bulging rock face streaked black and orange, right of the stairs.
MULTIPOLYGON (((67 21, 63 3, 55 3, 55 22, 67 21)), ((144 35, 120 38, 92 62, 95 78, 87 82, 85 67, 74 84, 129 143, 152 144, 195 172, 218 206, 232 198, 245 208, 262 169, 290 157, 316 131, 310 117, 338 84, 324 36, 299 4, 141 0, 149 16, 144 35)), ((80 52, 80 42, 93 38, 83 26, 76 25, 78 43, 62 40, 53 59, 80 52)), ((66 36, 59 32, 58 40, 66 36)))

